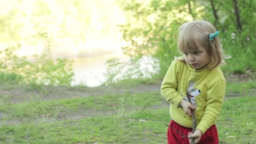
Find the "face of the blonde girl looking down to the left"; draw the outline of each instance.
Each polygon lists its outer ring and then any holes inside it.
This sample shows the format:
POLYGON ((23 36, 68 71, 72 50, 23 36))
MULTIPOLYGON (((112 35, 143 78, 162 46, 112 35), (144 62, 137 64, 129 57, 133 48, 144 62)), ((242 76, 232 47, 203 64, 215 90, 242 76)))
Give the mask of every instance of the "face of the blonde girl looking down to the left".
POLYGON ((183 52, 187 64, 194 69, 202 69, 211 61, 211 57, 205 51, 205 48, 198 48, 197 51, 183 52))

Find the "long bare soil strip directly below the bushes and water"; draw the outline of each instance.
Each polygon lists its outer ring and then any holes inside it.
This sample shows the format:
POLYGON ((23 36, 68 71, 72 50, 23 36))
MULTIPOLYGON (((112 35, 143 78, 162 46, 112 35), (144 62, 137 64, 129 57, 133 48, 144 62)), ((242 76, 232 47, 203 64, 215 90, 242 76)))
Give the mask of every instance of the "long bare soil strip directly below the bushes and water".
POLYGON ((29 101, 48 101, 54 99, 69 99, 74 97, 120 95, 123 93, 160 93, 161 82, 155 84, 140 84, 136 86, 109 85, 94 88, 83 86, 40 86, 32 88, 28 85, 0 85, 0 97, 4 102, 18 104, 29 101))

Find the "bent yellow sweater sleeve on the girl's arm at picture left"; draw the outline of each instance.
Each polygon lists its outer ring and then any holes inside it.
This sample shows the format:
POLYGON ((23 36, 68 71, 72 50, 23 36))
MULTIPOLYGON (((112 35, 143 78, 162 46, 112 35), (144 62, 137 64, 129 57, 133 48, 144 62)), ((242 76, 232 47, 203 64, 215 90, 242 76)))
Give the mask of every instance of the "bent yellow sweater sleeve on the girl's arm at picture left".
POLYGON ((181 94, 177 91, 179 75, 178 70, 178 63, 176 60, 174 60, 171 66, 168 68, 161 85, 162 96, 176 107, 178 107, 179 102, 183 99, 181 94))

